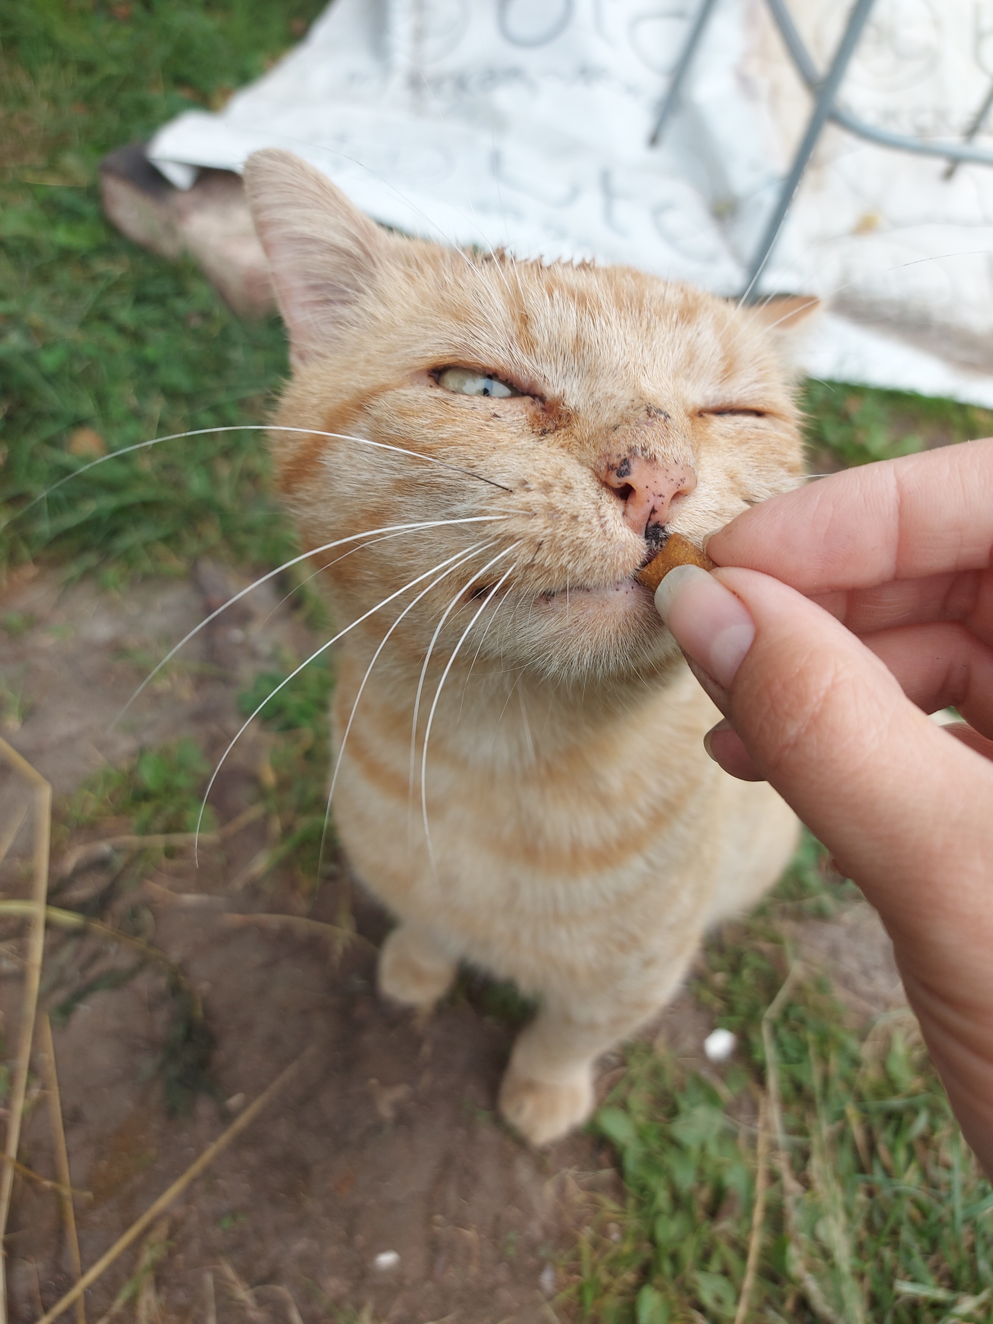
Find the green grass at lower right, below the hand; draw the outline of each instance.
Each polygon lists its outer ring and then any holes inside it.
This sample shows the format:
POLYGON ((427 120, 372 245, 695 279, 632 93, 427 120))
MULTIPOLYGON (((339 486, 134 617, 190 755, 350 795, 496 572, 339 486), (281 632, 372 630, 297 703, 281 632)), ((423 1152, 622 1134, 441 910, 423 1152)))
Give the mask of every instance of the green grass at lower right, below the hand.
POLYGON ((739 1037, 728 1068, 703 1075, 665 1049, 629 1049, 628 1071, 593 1123, 620 1156, 626 1194, 589 1197, 591 1218, 563 1264, 563 1304, 580 1319, 735 1319, 755 1206, 759 1100, 773 1090, 794 1190, 788 1213, 773 1140, 748 1317, 993 1317, 993 1190, 961 1139, 916 1022, 906 1012, 866 1022, 824 977, 798 967, 790 978, 777 920, 828 918, 843 906, 854 888, 829 878, 824 851, 808 841, 777 894, 707 944, 692 990, 715 1023, 739 1037))

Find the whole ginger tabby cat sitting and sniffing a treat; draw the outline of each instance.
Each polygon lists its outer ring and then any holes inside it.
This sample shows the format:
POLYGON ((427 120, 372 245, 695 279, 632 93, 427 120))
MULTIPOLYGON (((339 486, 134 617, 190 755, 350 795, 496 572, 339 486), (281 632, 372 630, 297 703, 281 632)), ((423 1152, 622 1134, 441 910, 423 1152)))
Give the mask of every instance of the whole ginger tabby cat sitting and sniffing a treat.
POLYGON ((430 1009, 463 960, 538 996, 499 1107, 547 1144, 794 849, 779 796, 707 757, 719 714, 633 579, 800 481, 775 319, 391 234, 289 152, 245 184, 294 369, 281 486, 355 622, 334 814, 399 920, 380 990, 430 1009))

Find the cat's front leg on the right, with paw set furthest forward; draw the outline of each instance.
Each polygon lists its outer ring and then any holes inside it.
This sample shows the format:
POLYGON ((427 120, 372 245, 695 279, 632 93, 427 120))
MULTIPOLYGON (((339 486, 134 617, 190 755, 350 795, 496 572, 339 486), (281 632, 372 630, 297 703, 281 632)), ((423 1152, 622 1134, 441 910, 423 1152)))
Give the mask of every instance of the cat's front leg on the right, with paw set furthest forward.
POLYGON ((632 1035, 673 996, 690 953, 641 989, 601 988, 545 997, 519 1035, 500 1084, 503 1117, 530 1140, 547 1145, 581 1125, 593 1111, 593 1067, 601 1054, 632 1035))

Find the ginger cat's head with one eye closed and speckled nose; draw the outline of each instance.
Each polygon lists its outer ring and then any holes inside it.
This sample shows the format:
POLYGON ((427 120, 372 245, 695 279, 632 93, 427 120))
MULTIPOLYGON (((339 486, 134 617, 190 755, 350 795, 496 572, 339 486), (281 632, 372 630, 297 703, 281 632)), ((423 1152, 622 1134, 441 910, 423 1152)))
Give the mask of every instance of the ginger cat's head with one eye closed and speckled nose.
POLYGON ((782 312, 392 234, 289 152, 245 184, 290 335, 275 422, 303 429, 273 433, 283 491, 305 545, 369 531, 314 557, 339 624, 397 594, 385 632, 426 591, 393 639, 412 659, 454 602, 442 655, 478 613, 477 666, 663 667, 636 572, 670 530, 700 544, 800 479, 782 312))

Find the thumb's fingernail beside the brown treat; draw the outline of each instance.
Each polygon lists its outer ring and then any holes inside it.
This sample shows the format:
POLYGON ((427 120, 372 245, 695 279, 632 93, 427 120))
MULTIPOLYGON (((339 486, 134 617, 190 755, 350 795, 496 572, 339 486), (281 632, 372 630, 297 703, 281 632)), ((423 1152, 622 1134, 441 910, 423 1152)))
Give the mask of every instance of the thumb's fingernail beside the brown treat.
POLYGON ((730 690, 755 639, 741 600, 699 565, 677 565, 655 589, 655 610, 683 653, 730 690))

